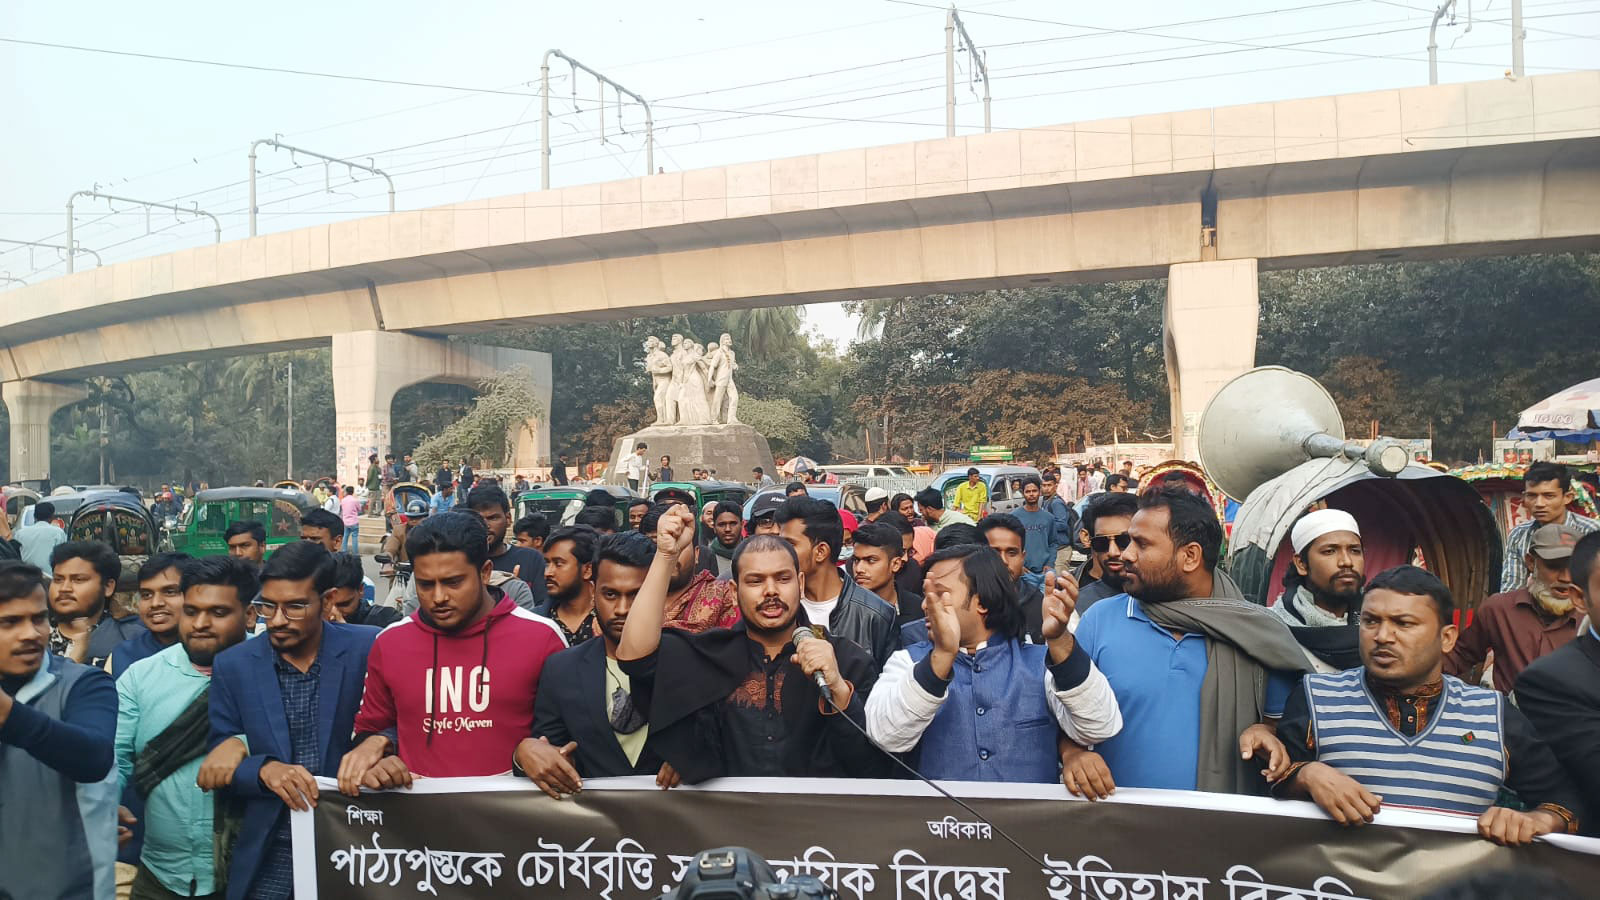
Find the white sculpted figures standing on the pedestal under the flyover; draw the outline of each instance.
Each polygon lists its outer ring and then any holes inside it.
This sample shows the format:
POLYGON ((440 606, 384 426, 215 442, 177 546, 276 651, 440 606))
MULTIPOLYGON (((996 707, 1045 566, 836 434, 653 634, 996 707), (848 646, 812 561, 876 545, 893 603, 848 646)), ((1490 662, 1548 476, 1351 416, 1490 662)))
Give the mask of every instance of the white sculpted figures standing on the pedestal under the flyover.
POLYGON ((739 362, 730 335, 710 349, 683 335, 672 335, 670 348, 656 336, 645 338, 645 372, 654 388, 656 424, 738 424, 736 368, 739 362))

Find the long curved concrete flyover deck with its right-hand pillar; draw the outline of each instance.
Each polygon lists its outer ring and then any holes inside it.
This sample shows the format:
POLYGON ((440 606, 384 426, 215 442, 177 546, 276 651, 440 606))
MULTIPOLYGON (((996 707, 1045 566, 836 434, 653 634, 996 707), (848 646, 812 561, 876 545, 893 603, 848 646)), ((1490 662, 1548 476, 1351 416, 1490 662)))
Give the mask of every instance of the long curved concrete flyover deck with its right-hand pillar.
MULTIPOLYGON (((0 380, 13 434, 37 432, 67 394, 27 383, 354 331, 1171 274, 1173 428, 1192 456, 1197 413, 1254 360, 1258 269, 1595 247, 1600 72, 1574 72, 838 151, 181 250, 8 291, 0 380)), ((43 477, 16 447, 13 477, 43 477)))

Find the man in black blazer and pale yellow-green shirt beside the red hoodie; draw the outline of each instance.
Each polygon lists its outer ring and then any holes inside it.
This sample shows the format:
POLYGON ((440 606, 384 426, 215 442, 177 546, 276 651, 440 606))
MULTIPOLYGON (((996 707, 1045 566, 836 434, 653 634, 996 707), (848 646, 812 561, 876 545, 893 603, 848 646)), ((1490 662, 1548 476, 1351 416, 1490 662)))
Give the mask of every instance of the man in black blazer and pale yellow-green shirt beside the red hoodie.
POLYGON ((629 677, 616 661, 622 623, 654 549, 654 541, 638 532, 600 538, 590 573, 600 637, 544 663, 533 737, 517 746, 514 761, 552 798, 578 793, 586 777, 654 773, 662 788, 678 783, 672 767, 650 748, 650 725, 643 711, 634 709, 629 677))

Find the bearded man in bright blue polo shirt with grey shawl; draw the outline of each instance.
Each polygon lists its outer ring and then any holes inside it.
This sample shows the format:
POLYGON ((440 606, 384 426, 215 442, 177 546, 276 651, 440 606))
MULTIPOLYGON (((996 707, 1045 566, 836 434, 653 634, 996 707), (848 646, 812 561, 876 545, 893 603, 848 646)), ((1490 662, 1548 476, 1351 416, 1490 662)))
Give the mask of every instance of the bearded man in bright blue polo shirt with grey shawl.
POLYGON ((1266 794, 1254 757, 1288 767, 1272 722, 1306 655, 1216 570, 1222 525, 1208 503, 1186 490, 1146 493, 1128 533, 1128 594, 1090 607, 1077 631, 1110 681, 1123 727, 1093 751, 1069 746, 1062 781, 1091 799, 1117 785, 1266 794))

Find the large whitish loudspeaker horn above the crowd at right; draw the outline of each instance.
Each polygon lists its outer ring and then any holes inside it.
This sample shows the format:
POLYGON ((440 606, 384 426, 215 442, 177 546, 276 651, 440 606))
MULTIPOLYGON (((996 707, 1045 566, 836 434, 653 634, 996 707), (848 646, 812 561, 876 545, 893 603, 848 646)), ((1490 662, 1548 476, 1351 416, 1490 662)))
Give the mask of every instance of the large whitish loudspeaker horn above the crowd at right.
POLYGON ((1410 463, 1395 440, 1347 442, 1333 396, 1315 378, 1282 365, 1234 378, 1200 416, 1200 468, 1238 501, 1306 460, 1328 456, 1365 460, 1389 477, 1410 463))

